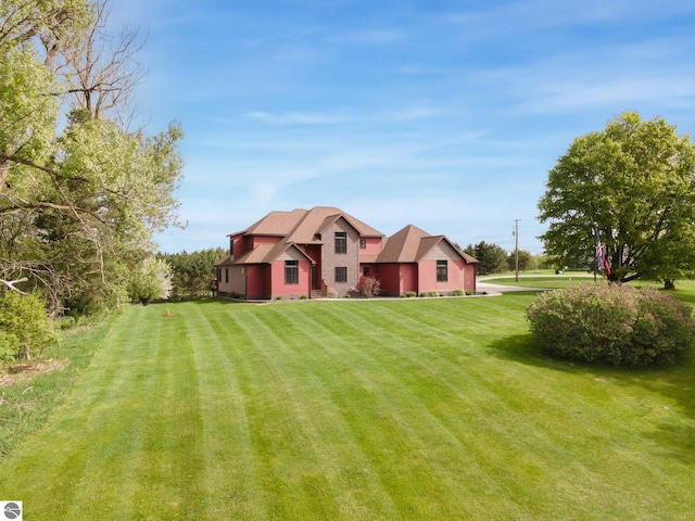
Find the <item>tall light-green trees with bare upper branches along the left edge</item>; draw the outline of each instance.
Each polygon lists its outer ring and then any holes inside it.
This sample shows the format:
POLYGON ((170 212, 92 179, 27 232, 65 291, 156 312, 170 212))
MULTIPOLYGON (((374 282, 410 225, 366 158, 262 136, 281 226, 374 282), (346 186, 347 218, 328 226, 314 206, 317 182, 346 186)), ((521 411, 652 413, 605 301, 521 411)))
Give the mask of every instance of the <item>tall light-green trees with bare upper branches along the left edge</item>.
POLYGON ((172 122, 131 128, 142 71, 109 2, 0 0, 0 280, 51 316, 111 308, 179 225, 172 122))

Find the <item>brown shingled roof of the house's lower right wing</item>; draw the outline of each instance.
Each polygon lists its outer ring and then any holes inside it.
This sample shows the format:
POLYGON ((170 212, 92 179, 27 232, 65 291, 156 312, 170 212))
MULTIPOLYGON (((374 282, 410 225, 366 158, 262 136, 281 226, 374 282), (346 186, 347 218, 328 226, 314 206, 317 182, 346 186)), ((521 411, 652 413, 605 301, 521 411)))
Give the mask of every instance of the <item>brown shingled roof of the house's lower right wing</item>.
POLYGON ((386 240, 377 263, 419 263, 442 241, 452 246, 466 264, 478 263, 476 258, 459 251, 446 237, 430 236, 414 225, 406 226, 386 240))

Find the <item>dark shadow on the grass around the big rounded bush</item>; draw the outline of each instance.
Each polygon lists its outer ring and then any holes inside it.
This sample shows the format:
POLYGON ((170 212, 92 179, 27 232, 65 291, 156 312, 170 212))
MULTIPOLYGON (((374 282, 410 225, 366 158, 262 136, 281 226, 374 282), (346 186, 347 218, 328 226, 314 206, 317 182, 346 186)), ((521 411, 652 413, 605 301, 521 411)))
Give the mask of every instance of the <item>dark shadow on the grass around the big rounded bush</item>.
POLYGON ((590 374, 621 387, 641 386, 665 398, 665 408, 673 407, 673 422, 656 422, 643 435, 657 444, 665 455, 688 465, 695 463, 695 348, 673 365, 627 368, 593 365, 552 357, 533 342, 531 333, 513 334, 490 344, 493 356, 528 366, 590 374))

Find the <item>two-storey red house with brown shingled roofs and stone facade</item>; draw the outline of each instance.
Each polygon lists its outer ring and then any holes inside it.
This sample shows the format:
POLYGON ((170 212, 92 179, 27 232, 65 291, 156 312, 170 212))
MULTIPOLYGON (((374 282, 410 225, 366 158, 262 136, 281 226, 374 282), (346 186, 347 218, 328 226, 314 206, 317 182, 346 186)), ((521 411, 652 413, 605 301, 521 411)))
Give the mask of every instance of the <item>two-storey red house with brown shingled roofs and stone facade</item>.
POLYGON ((409 225, 387 238, 336 207, 270 212, 229 236, 215 289, 247 300, 344 296, 365 277, 382 293, 476 291, 477 259, 409 225))

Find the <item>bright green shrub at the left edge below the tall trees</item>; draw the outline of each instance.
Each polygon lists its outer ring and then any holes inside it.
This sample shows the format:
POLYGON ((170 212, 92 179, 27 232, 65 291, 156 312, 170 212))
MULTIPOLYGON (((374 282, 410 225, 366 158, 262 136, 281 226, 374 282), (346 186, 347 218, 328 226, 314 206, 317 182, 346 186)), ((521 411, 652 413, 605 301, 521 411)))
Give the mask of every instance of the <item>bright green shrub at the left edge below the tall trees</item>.
POLYGON ((40 355, 58 342, 46 314, 46 305, 36 295, 23 296, 12 291, 0 296, 0 364, 40 355))

